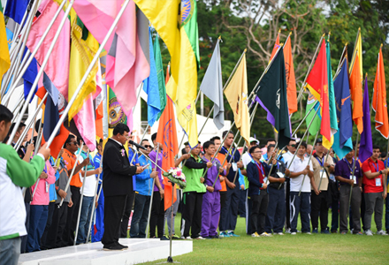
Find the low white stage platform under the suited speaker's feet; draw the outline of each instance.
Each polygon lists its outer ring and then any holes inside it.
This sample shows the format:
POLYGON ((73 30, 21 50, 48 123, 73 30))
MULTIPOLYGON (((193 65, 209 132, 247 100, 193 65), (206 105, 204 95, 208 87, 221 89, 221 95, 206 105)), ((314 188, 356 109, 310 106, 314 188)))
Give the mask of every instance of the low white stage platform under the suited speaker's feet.
MULTIPOLYGON (((23 265, 103 265, 138 264, 169 256, 169 241, 159 239, 119 239, 119 243, 128 246, 124 251, 104 251, 101 242, 80 246, 66 246, 57 249, 21 254, 19 264, 23 265)), ((172 256, 193 251, 191 240, 173 240, 172 256)))

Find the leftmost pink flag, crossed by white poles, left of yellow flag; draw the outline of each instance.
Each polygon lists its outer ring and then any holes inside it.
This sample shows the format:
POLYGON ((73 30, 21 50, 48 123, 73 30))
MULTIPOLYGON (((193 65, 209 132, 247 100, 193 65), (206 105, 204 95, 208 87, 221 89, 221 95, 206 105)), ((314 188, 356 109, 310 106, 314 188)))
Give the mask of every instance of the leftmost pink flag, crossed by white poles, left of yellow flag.
MULTIPOLYGON (((52 0, 42 0, 42 4, 39 6, 38 11, 41 15, 35 19, 31 26, 30 34, 27 38, 27 48, 34 50, 38 42, 42 38, 43 32, 50 24, 50 20, 54 17, 59 6, 52 0)), ((50 28, 49 34, 42 42, 41 47, 35 55, 39 64, 43 63, 44 57, 50 48, 50 44, 54 39, 55 34, 61 20, 64 18, 65 12, 60 11, 53 26, 50 28)), ((49 76, 54 86, 57 87, 59 92, 67 99, 67 85, 69 77, 69 52, 70 52, 70 21, 66 19, 65 25, 61 30, 56 45, 51 52, 48 64, 44 68, 44 72, 49 76)))

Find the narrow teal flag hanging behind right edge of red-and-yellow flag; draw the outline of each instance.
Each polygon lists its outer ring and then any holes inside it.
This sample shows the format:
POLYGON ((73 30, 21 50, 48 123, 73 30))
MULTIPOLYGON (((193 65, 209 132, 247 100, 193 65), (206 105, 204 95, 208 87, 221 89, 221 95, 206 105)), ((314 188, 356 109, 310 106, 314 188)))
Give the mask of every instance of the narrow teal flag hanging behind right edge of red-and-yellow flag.
POLYGON ((328 105, 330 109, 330 127, 331 139, 323 139, 324 146, 332 147, 333 135, 338 132, 338 119, 336 116, 335 93, 333 91, 332 67, 331 67, 331 49, 330 42, 325 41, 325 49, 327 53, 327 73, 328 73, 328 105))

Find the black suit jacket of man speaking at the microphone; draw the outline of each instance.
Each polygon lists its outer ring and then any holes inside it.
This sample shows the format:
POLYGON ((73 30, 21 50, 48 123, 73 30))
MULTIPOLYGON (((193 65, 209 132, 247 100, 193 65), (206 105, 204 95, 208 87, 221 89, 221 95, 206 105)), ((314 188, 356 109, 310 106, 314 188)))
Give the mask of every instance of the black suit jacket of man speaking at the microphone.
POLYGON ((131 166, 126 149, 115 140, 109 139, 103 153, 104 196, 128 195, 133 193, 133 175, 136 166, 131 166))

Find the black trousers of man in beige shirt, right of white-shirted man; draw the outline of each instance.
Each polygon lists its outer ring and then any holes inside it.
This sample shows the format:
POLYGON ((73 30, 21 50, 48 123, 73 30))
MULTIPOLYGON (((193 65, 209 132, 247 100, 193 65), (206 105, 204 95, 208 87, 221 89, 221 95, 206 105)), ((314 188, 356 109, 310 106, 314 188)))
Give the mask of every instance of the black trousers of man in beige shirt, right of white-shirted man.
POLYGON ((319 212, 321 231, 327 229, 327 205, 327 191, 321 191, 321 193, 319 193, 318 195, 314 192, 310 193, 310 223, 312 223, 312 230, 318 229, 319 227, 319 212))

